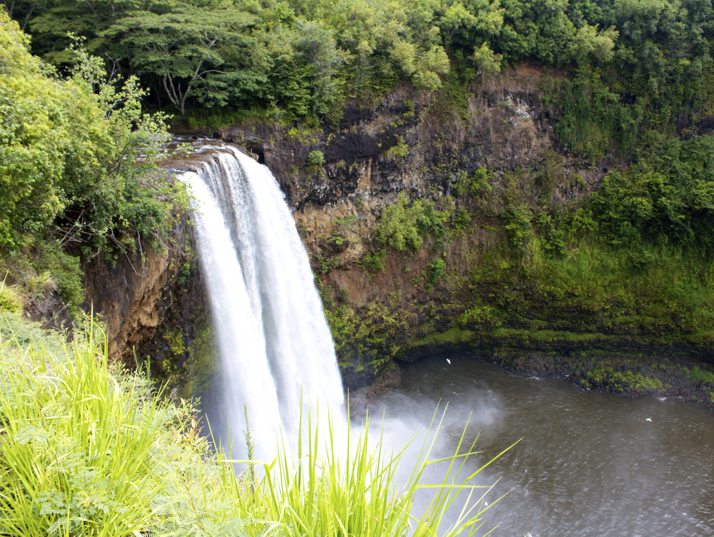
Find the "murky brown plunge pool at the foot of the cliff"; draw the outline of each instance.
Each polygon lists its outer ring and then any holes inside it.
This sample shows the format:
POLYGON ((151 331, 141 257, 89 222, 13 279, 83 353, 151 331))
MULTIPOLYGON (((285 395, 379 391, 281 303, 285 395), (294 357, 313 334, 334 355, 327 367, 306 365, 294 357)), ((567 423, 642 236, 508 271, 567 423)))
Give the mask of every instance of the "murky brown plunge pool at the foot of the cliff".
POLYGON ((501 523, 491 535, 714 536, 714 416, 704 408, 443 355, 403 367, 386 418, 397 436, 416 434, 440 399, 449 408, 439 451, 453 451, 469 413, 467 438, 481 431, 471 471, 523 437, 481 478, 501 478, 490 501, 513 488, 486 512, 484 528, 501 523))

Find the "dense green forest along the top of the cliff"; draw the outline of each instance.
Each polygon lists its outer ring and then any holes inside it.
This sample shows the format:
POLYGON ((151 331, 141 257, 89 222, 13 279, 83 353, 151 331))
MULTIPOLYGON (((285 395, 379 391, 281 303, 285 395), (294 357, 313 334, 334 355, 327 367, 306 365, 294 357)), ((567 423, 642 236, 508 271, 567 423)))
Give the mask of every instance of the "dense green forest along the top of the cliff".
POLYGON ((522 61, 574 75, 560 129, 575 144, 627 149, 638 130, 713 105, 709 0, 4 4, 32 36, 32 52, 60 72, 74 64, 71 34, 81 36, 118 74, 138 76, 155 106, 179 114, 334 121, 348 98, 403 81, 438 90, 522 61), (590 121, 608 127, 604 136, 575 132, 588 105, 597 109, 590 121))

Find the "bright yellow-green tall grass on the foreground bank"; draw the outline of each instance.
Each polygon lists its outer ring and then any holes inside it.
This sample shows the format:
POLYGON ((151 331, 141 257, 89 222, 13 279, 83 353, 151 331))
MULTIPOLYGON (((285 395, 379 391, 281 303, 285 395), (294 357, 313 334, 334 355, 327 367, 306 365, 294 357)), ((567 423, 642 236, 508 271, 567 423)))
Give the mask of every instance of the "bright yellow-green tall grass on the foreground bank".
POLYGON ((2 535, 401 537, 481 528, 491 487, 469 484, 478 471, 461 476, 473 446, 433 458, 432 435, 401 478, 403 449, 362 428, 339 450, 334 431, 323 435, 307 416, 298 453, 279 446, 273 461, 240 461, 256 471, 236 473, 239 461, 211 448, 191 403, 164 397, 145 371, 109 363, 98 337, 90 327, 61 352, 43 341, 0 342, 2 535), (448 464, 443 481, 422 483, 433 464, 448 464), (431 501, 413 513, 420 491, 431 501), (460 514, 447 524, 456 502, 460 514))

